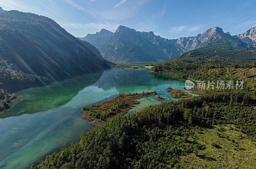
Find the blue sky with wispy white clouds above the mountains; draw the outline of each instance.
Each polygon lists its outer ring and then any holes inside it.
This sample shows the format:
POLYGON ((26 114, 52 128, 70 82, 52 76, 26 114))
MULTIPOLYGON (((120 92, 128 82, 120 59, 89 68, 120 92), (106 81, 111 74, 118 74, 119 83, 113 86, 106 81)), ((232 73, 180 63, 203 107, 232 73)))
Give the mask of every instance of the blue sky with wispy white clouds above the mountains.
POLYGON ((255 0, 1 0, 0 6, 52 18, 76 37, 102 28, 115 32, 119 25, 168 39, 213 26, 231 35, 256 26, 255 0))

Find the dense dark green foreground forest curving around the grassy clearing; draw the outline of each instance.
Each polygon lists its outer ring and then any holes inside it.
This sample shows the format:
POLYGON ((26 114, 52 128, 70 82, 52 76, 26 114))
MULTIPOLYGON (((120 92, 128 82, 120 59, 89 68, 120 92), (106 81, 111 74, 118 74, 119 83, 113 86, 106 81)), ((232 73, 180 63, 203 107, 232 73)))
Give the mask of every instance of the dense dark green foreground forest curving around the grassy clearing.
POLYGON ((208 93, 118 116, 48 155, 35 168, 180 168, 180 156, 205 148, 187 140, 193 136, 191 128, 234 124, 255 137, 256 112, 247 104, 255 100, 245 95, 208 93))

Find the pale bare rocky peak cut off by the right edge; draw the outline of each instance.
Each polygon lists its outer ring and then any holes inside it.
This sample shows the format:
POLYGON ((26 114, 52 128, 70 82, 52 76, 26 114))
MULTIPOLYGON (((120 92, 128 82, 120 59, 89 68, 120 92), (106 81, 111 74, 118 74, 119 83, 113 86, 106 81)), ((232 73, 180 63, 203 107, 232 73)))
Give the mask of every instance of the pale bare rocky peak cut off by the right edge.
POLYGON ((237 34, 237 37, 248 44, 249 48, 256 48, 256 27, 252 27, 242 34, 237 34))

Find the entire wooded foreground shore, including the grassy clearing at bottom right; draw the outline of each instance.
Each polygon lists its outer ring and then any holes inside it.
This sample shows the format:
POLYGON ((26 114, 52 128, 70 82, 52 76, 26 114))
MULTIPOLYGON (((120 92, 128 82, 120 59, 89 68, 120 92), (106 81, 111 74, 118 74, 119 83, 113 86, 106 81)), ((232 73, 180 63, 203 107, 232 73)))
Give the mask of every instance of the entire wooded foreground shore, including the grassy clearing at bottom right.
POLYGON ((107 121, 82 135, 80 142, 48 155, 36 168, 182 168, 194 162, 205 167, 255 166, 251 152, 255 147, 256 111, 249 102, 255 100, 237 91, 150 106, 107 121), (227 132, 234 129, 234 134, 227 132), (248 160, 243 163, 232 160, 245 156, 248 160))

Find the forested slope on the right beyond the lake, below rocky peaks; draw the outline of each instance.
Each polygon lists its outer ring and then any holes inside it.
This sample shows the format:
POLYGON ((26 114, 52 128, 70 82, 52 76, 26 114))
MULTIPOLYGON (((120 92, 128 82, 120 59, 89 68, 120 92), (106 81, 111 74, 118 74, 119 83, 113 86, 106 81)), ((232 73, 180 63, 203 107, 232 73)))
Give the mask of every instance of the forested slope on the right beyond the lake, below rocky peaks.
POLYGON ((256 49, 208 44, 156 64, 150 72, 194 80, 242 80, 250 77, 253 82, 255 68, 256 49))

